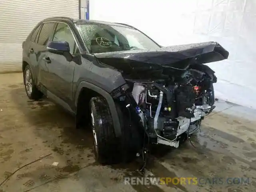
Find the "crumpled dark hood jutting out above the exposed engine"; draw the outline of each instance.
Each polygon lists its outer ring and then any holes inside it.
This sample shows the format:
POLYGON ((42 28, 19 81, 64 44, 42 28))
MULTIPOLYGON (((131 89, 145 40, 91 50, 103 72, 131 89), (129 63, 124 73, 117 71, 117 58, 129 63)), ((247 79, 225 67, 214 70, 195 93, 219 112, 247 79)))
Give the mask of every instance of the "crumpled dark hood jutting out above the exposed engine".
POLYGON ((228 55, 228 51, 217 42, 168 46, 152 50, 128 50, 94 54, 96 58, 107 65, 116 68, 118 65, 129 63, 133 69, 136 68, 137 64, 140 67, 143 65, 144 68, 160 65, 162 67, 186 69, 190 64, 216 62, 227 59, 228 55))

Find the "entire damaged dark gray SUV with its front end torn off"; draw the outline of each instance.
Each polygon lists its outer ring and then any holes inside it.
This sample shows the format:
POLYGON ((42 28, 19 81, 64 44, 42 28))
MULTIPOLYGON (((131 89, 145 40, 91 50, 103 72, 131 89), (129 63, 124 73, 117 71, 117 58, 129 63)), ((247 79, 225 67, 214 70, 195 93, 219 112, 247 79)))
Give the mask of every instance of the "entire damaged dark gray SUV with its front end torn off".
POLYGON ((214 109, 214 71, 228 58, 216 42, 162 47, 120 23, 48 18, 22 44, 28 98, 50 98, 91 126, 104 164, 178 148, 214 109))

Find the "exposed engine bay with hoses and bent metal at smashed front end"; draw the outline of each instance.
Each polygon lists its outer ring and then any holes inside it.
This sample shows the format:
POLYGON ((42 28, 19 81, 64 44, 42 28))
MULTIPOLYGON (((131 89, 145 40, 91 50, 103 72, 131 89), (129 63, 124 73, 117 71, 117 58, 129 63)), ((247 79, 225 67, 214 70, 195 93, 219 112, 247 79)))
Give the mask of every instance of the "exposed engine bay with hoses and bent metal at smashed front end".
POLYGON ((134 82, 136 111, 151 142, 177 148, 182 134, 198 130, 214 109, 214 82, 214 75, 192 68, 168 81, 134 82))

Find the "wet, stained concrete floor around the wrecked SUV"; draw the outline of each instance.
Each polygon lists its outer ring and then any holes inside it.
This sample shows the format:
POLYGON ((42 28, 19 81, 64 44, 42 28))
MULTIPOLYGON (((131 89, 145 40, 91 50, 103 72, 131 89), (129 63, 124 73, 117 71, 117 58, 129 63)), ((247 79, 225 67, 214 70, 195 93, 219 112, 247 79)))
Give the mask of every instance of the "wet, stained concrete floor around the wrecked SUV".
POLYGON ((47 100, 28 100, 22 74, 0 74, 0 182, 20 166, 51 156, 14 174, 0 192, 253 192, 256 191, 256 113, 225 102, 202 132, 178 149, 154 152, 148 169, 159 177, 250 177, 249 185, 124 185, 138 164, 101 166, 92 155, 92 134, 47 100), (246 118, 245 118, 246 117, 246 118), (59 162, 53 166, 53 162, 59 162))

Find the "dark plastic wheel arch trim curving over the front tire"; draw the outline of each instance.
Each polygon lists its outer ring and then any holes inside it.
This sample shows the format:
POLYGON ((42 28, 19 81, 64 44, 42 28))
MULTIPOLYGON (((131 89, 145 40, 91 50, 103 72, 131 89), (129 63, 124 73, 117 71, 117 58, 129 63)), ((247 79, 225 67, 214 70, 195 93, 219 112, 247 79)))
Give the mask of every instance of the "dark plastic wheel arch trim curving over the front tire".
POLYGON ((84 94, 84 91, 86 92, 86 90, 92 90, 92 92, 96 93, 96 95, 98 94, 100 96, 103 96, 106 99, 106 102, 108 103, 110 113, 112 116, 116 137, 120 137, 121 136, 121 126, 120 126, 120 121, 118 118, 116 106, 114 103, 114 99, 108 92, 106 92, 106 90, 104 90, 94 84, 91 84, 89 82, 85 82, 85 81, 80 82, 80 84, 78 85, 77 91, 76 91, 76 96, 75 96, 76 111, 78 110, 78 102, 81 100, 81 96, 84 94))

